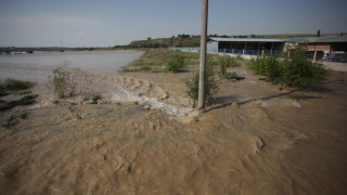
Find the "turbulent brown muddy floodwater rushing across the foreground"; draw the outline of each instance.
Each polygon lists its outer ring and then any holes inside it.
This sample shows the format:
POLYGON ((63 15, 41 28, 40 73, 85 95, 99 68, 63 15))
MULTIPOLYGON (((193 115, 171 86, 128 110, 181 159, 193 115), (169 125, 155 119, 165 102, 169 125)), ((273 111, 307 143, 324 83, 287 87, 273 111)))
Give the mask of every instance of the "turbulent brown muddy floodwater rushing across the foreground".
POLYGON ((235 68, 206 113, 181 74, 74 73, 99 104, 72 99, 0 113, 0 194, 345 194, 347 73, 311 91, 235 68), (73 110, 73 112, 72 112, 73 110))

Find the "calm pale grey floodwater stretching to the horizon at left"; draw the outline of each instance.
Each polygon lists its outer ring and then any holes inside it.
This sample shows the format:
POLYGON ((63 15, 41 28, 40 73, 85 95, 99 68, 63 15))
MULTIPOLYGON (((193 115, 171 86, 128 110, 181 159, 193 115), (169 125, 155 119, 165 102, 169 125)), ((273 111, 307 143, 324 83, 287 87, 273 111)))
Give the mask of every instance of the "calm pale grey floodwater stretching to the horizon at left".
POLYGON ((142 53, 141 51, 66 51, 0 55, 0 78, 43 82, 47 81, 51 69, 57 67, 115 74, 142 53))

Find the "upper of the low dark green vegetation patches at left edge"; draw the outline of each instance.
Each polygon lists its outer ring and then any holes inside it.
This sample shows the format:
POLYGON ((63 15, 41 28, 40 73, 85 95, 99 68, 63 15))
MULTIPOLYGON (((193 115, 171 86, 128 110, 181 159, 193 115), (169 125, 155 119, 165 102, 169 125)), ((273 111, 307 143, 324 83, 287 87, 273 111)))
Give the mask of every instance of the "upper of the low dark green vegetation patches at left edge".
POLYGON ((0 82, 0 95, 4 95, 11 91, 30 89, 33 86, 34 83, 29 81, 21 81, 8 78, 3 82, 0 82))

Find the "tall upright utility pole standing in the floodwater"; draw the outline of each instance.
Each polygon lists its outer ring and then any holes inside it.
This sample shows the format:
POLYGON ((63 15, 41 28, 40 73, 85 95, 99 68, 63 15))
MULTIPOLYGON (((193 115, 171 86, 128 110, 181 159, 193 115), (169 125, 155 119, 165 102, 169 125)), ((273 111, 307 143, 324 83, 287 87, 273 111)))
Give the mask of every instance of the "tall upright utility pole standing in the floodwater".
POLYGON ((200 43, 200 80, 198 80, 198 110, 205 108, 205 76, 206 76, 206 40, 207 40, 208 0, 203 0, 202 35, 200 43))

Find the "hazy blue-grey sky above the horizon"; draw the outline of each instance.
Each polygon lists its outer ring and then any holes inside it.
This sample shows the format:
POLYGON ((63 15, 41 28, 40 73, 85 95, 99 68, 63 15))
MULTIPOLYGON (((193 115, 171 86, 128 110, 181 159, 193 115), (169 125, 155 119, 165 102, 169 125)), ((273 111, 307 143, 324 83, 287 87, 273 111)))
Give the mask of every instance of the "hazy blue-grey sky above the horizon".
MULTIPOLYGON (((0 0, 0 47, 112 47, 198 35, 202 0, 0 0)), ((209 0, 208 34, 347 32, 346 0, 209 0)))

